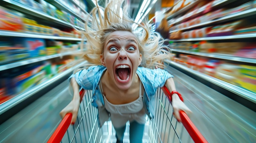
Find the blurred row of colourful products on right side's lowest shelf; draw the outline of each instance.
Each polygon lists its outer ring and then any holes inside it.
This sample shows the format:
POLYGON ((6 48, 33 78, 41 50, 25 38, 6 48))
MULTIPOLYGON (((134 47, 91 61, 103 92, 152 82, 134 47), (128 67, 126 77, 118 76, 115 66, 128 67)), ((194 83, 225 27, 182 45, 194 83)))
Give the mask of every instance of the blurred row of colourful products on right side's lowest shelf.
POLYGON ((255 66, 185 54, 180 54, 180 57, 174 57, 173 61, 192 70, 256 93, 255 66))

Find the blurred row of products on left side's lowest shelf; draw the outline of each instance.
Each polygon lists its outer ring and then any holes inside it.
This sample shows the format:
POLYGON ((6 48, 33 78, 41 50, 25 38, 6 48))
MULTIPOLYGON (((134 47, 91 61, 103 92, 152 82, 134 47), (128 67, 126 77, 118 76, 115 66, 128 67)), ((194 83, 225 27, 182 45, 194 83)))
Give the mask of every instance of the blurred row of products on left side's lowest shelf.
POLYGON ((51 59, 10 70, 9 73, 0 76, 0 103, 71 68, 70 63, 73 61, 74 57, 66 56, 61 60, 51 59))

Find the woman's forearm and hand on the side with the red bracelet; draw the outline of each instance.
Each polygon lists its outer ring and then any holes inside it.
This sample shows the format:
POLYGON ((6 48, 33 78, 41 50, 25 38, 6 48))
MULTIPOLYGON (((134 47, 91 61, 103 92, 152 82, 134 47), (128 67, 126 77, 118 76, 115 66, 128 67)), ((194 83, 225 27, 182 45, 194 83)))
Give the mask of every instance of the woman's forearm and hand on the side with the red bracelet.
MULTIPOLYGON (((170 92, 176 91, 173 78, 167 79, 164 86, 166 86, 166 88, 168 88, 170 92)), ((179 113, 180 110, 183 110, 186 113, 191 113, 191 110, 184 104, 184 102, 180 100, 180 97, 176 93, 172 95, 172 106, 173 106, 173 114, 177 119, 177 121, 181 121, 180 113, 179 113)))

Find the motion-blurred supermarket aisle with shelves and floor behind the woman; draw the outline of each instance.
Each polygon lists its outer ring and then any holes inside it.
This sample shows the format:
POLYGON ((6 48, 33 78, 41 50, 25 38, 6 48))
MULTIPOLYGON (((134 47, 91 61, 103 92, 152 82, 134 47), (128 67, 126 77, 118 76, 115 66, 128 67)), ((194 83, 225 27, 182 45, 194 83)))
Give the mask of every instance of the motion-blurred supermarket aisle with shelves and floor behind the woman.
MULTIPOLYGON (((255 143, 256 0, 126 2, 131 18, 153 30, 167 19, 172 56, 164 64, 207 141, 255 143)), ((95 4, 0 0, 0 143, 49 139, 72 99, 67 78, 86 45, 78 29, 95 4)))

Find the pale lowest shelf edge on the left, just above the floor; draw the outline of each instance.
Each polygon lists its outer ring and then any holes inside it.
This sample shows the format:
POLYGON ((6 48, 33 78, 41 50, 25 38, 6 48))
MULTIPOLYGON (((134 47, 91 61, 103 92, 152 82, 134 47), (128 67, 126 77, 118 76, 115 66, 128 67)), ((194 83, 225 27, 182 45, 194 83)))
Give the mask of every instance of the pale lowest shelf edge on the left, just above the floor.
POLYGON ((28 99, 29 97, 35 95, 38 91, 40 91, 40 90, 44 89, 45 87, 51 85, 54 81, 57 81, 57 80, 61 79, 62 77, 66 76, 67 74, 72 73, 72 71, 74 69, 78 68, 79 66, 84 65, 85 63, 86 62, 82 62, 81 64, 78 64, 77 66, 69 68, 69 69, 65 70, 64 72, 52 77, 48 81, 45 81, 42 84, 39 84, 39 85, 29 89, 29 90, 26 90, 25 92, 22 92, 21 94, 16 95, 15 97, 9 99, 8 101, 0 104, 0 114, 3 114, 4 112, 6 112, 9 109, 15 107, 16 105, 18 105, 19 103, 21 103, 25 99, 28 99))

